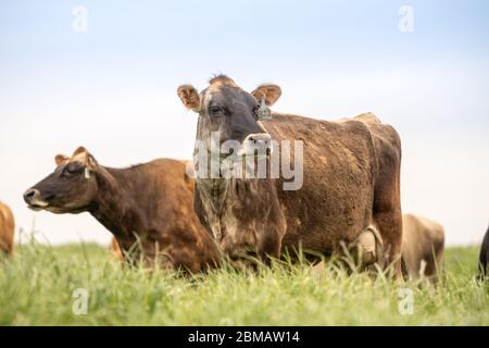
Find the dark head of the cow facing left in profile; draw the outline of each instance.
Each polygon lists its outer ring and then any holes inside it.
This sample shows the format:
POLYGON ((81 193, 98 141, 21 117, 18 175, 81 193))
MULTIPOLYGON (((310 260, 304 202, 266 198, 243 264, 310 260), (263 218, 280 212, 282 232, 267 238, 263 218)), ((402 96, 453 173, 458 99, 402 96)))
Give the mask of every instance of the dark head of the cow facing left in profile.
POLYGON ((98 189, 97 161, 83 147, 71 158, 58 154, 54 161, 55 171, 25 191, 25 202, 33 210, 60 214, 86 211, 98 189))

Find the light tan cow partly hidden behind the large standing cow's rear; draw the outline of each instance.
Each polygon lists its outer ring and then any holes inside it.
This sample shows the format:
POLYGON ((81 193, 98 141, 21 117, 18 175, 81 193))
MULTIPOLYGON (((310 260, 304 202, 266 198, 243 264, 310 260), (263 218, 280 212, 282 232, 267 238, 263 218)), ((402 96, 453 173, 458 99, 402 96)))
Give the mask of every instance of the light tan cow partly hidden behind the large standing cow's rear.
POLYGON ((425 217, 402 216, 402 260, 410 279, 432 278, 443 264, 443 227, 425 217))

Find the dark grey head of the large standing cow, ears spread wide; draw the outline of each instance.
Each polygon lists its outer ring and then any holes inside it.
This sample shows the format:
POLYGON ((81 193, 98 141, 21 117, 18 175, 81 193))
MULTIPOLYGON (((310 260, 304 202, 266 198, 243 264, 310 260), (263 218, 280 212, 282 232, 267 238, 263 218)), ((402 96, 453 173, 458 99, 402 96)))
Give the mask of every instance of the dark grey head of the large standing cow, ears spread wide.
POLYGON ((271 136, 260 119, 264 109, 273 105, 280 95, 280 87, 276 85, 261 85, 249 94, 224 75, 212 78, 201 94, 190 85, 178 88, 184 105, 199 113, 198 140, 211 149, 211 137, 217 134, 218 146, 233 140, 241 145, 243 152, 250 144, 254 149, 269 147, 271 136))

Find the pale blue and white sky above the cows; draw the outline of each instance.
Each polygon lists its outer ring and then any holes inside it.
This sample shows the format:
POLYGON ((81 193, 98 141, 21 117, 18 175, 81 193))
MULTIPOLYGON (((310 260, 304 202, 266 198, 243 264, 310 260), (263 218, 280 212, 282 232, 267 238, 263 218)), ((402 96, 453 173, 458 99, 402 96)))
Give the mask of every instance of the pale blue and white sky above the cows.
POLYGON ((372 111, 402 136, 403 209, 449 244, 489 222, 487 1, 1 1, 0 199, 51 243, 109 240, 91 217, 28 211, 53 156, 102 164, 190 158, 196 116, 175 90, 226 73, 283 87, 275 109, 321 119, 372 111), (88 30, 72 29, 75 5, 88 30), (398 28, 414 10, 414 32, 398 28))

